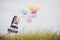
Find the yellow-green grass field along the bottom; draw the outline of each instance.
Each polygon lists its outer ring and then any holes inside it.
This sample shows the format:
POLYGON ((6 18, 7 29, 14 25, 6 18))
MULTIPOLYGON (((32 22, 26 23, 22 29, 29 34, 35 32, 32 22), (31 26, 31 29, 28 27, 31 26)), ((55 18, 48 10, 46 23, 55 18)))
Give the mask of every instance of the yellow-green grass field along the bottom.
POLYGON ((60 35, 52 32, 45 33, 28 33, 28 34, 19 34, 14 36, 2 35, 0 40, 60 40, 60 35))

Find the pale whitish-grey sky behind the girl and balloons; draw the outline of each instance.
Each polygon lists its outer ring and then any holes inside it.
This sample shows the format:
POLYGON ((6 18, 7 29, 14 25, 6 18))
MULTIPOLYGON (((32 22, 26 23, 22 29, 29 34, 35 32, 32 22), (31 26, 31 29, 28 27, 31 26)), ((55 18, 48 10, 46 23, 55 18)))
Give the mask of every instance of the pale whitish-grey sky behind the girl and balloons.
POLYGON ((60 31, 60 0, 0 0, 0 33, 7 33, 14 15, 19 17, 19 33, 50 30, 60 31), (32 22, 28 23, 30 17, 29 7, 40 7, 32 22), (26 10, 23 15, 21 10, 26 10))

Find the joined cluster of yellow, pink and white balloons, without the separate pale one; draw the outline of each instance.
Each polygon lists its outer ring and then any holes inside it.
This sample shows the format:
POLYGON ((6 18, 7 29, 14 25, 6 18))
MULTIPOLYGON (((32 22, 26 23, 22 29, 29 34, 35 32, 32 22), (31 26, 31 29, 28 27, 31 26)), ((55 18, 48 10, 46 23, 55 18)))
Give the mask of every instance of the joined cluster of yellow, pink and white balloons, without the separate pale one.
POLYGON ((34 17, 36 17, 36 15, 37 15, 37 12, 40 10, 40 8, 39 7, 33 7, 33 6, 30 6, 29 7, 29 11, 30 11, 30 17, 28 18, 28 20, 27 20, 27 22, 29 22, 29 23, 31 23, 32 22, 32 19, 34 18, 34 17))

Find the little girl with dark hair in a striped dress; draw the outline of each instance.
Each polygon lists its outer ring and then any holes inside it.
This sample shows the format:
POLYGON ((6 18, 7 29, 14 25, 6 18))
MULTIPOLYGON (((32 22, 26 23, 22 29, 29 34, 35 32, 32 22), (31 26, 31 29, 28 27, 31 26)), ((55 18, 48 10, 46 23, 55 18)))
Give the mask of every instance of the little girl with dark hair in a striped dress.
POLYGON ((18 22, 19 19, 17 16, 13 17, 12 23, 10 28, 8 29, 8 33, 18 33, 17 29, 18 29, 18 22))

